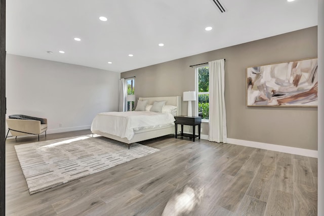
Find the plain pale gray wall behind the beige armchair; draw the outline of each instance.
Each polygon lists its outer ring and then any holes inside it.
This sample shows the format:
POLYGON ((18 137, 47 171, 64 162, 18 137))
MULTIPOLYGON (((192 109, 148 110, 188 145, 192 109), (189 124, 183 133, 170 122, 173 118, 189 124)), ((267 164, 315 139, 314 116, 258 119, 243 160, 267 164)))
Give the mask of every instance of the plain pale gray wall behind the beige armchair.
POLYGON ((6 64, 7 117, 47 118, 51 134, 88 129, 97 113, 118 110, 120 73, 10 54, 6 64))

